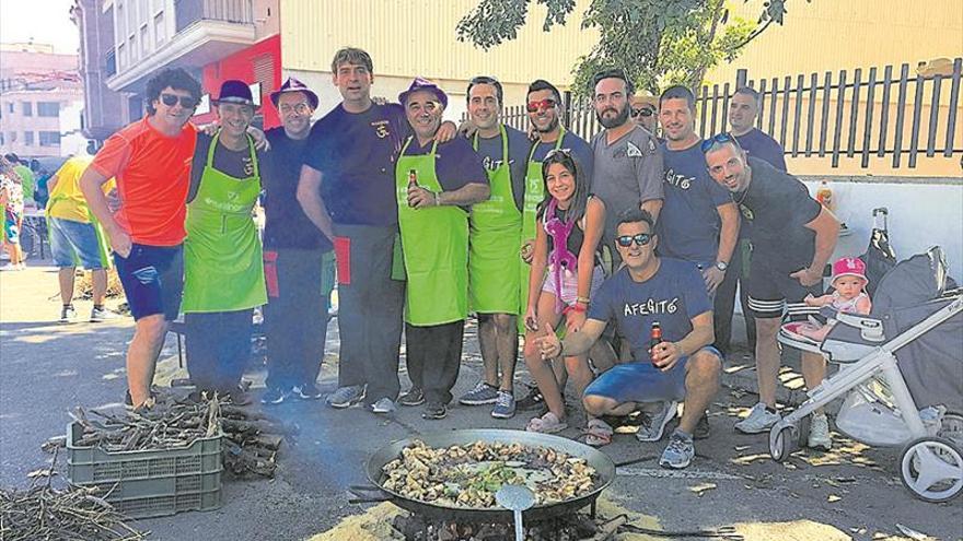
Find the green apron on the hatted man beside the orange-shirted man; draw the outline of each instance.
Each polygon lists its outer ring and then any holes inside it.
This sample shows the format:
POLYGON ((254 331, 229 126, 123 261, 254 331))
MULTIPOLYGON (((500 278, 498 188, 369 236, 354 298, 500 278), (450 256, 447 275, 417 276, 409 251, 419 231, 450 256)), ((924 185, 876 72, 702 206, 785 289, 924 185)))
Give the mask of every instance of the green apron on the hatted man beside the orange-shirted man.
POLYGON ((260 193, 254 143, 247 138, 254 175, 246 178, 213 168, 217 145, 214 136, 197 195, 187 204, 185 313, 242 310, 267 303, 260 237, 251 214, 260 193))

